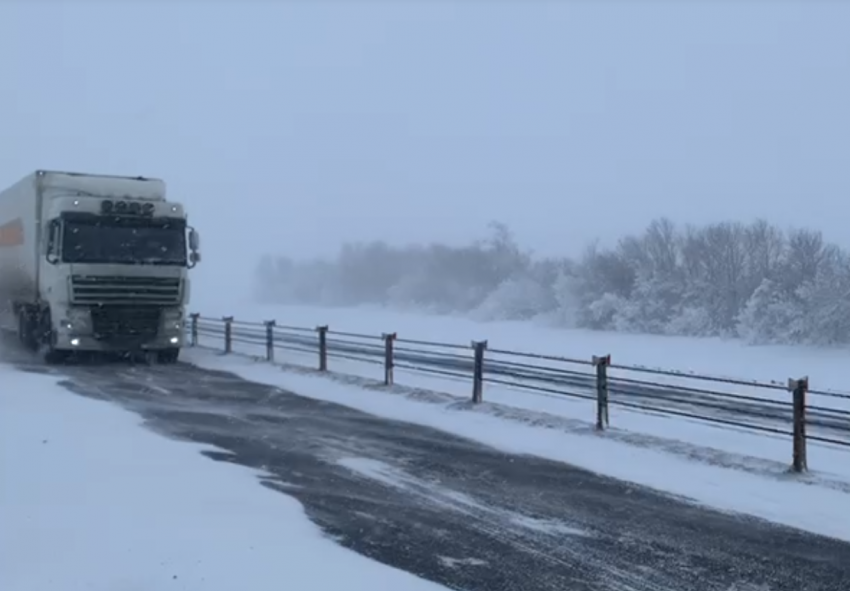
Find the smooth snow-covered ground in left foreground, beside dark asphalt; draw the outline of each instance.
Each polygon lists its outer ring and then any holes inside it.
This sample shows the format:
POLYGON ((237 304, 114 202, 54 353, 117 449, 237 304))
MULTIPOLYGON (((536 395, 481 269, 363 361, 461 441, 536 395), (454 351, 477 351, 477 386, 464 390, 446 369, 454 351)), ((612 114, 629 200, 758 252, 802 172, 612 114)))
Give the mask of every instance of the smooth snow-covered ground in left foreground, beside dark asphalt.
POLYGON ((0 383, 0 589, 444 588, 323 537, 209 446, 46 376, 0 365, 0 383))

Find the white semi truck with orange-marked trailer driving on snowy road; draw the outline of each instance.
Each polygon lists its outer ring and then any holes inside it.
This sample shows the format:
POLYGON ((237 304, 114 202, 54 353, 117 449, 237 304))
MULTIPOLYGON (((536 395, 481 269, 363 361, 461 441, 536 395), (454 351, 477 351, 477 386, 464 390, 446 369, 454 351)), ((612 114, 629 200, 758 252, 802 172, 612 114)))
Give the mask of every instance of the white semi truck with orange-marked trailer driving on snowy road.
POLYGON ((160 179, 38 170, 0 193, 0 325, 49 363, 176 362, 200 259, 160 179))

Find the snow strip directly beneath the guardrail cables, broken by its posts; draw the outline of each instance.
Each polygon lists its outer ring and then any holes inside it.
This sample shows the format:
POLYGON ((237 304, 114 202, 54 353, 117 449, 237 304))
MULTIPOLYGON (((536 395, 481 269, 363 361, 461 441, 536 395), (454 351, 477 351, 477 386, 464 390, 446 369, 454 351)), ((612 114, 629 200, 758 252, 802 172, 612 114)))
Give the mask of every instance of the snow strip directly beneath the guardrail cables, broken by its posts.
MULTIPOLYGON (((221 339, 202 336, 201 346, 212 350, 221 349, 221 339)), ((234 352, 264 358, 263 345, 237 342, 234 352)), ((191 359, 188 352, 187 359, 191 359)), ((306 369, 318 365, 316 353, 294 352, 289 349, 276 351, 280 362, 306 369)), ((331 371, 344 376, 362 378, 376 382, 383 379, 383 365, 359 361, 352 358, 331 356, 328 361, 331 371)), ((439 392, 458 401, 470 399, 471 381, 423 373, 403 367, 395 368, 395 383, 400 387, 419 388, 439 392)), ((595 396, 595 392, 588 392, 595 396)), ((502 384, 487 383, 484 401, 494 414, 517 422, 545 424, 555 429, 582 431, 595 421, 594 400, 518 389, 502 384), (498 407, 498 408, 497 408, 498 407), (553 420, 554 419, 554 420, 553 420), (564 419, 564 420, 559 420, 564 419)), ((703 461, 726 467, 736 467, 750 472, 777 475, 791 462, 791 425, 789 434, 779 435, 754 432, 727 425, 706 423, 697 419, 658 415, 613 405, 610 410, 610 426, 607 436, 628 440, 641 445, 664 450, 693 461, 703 461)), ((809 481, 817 481, 840 490, 850 490, 850 448, 823 444, 811 440, 808 443, 809 481)))

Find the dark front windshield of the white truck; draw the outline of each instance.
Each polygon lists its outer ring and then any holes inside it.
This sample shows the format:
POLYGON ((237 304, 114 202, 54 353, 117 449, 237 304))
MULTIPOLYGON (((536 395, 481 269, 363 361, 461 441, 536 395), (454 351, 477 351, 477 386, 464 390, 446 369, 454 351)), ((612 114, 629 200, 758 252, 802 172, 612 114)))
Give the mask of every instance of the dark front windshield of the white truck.
POLYGON ((62 260, 186 265, 186 222, 168 218, 66 217, 62 260))

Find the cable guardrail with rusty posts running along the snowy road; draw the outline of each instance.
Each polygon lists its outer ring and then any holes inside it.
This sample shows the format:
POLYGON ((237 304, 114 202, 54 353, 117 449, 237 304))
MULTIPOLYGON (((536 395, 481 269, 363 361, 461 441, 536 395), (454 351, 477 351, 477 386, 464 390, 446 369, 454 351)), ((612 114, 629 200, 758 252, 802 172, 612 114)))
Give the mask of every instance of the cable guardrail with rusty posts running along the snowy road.
MULTIPOLYGON (((245 322, 191 315, 192 346, 256 347, 255 355, 274 361, 276 353, 315 355, 315 368, 329 370, 329 359, 346 359, 383 368, 384 383, 394 370, 472 382, 471 400, 484 399, 484 385, 546 393, 596 402, 596 427, 608 426, 609 406, 695 419, 739 429, 787 435, 793 441, 793 469, 806 469, 806 441, 850 447, 850 393, 812 390, 808 378, 785 384, 697 375, 614 364, 610 355, 571 359, 469 345, 380 335, 245 322), (213 343, 209 341, 212 340, 213 343), (202 342, 204 341, 204 342, 202 342), (665 381, 675 380, 673 383, 665 381), (728 391, 720 390, 721 384, 728 391)), ((245 353, 246 351, 240 351, 245 353)), ((286 361, 286 359, 282 359, 286 361)), ((289 361, 292 361, 291 359, 289 361)))

